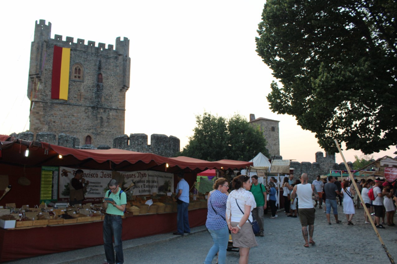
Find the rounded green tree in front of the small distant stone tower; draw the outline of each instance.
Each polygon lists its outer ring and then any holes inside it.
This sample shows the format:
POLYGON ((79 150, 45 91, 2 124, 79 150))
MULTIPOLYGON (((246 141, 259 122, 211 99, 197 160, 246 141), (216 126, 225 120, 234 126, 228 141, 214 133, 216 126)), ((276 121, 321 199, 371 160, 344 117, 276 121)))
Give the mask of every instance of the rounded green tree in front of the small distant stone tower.
POLYGON ((200 160, 248 161, 254 154, 268 155, 266 140, 258 127, 252 127, 241 115, 228 120, 210 113, 196 116, 197 126, 181 155, 200 160))

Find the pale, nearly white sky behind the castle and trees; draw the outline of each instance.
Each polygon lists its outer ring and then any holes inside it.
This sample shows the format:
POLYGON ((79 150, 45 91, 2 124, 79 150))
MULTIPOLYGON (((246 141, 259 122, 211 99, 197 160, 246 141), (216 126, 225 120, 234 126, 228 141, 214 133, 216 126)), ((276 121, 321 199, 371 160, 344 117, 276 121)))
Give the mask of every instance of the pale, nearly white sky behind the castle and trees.
MULTIPOLYGON (((256 30, 264 0, 203 1, 7 1, 2 4, 3 72, 0 134, 29 129, 27 82, 35 21, 54 34, 115 45, 130 40, 131 81, 126 93, 125 134, 173 135, 188 143, 196 115, 228 118, 239 113, 279 120, 283 159, 315 161, 324 152, 314 134, 293 116, 269 109, 272 71, 257 55, 256 30), (123 4, 124 3, 124 4, 123 4)), ((374 154, 395 157, 390 150, 374 154)), ((325 152, 324 152, 325 154, 325 152)), ((361 152, 345 150, 347 161, 361 152)), ((336 162, 343 162, 336 154, 336 162)))

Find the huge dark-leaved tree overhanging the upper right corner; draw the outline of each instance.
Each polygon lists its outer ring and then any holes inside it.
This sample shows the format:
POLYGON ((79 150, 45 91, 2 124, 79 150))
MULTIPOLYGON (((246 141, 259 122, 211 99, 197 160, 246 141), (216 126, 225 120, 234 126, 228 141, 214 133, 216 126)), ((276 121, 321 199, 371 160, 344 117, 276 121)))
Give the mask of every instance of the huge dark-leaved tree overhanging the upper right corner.
POLYGON ((365 154, 397 144, 397 2, 267 0, 258 55, 278 79, 273 112, 296 117, 318 143, 365 154))

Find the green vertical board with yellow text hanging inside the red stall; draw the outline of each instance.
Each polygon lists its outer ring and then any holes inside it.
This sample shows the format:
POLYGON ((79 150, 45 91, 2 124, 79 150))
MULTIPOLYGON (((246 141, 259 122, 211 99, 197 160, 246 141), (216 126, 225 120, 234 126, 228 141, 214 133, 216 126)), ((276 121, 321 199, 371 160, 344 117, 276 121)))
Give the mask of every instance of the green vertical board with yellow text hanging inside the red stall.
POLYGON ((58 176, 59 167, 41 167, 40 203, 58 200, 58 176))

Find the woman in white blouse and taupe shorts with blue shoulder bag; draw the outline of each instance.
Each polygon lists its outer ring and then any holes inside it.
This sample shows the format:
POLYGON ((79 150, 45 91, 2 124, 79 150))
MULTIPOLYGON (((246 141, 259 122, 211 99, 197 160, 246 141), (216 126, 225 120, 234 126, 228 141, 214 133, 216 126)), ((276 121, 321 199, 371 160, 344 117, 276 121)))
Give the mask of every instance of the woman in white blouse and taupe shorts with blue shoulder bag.
POLYGON ((230 192, 226 203, 227 226, 231 230, 233 247, 239 248, 239 264, 247 264, 250 248, 258 245, 251 224, 253 222, 251 211, 256 207, 255 198, 249 192, 251 185, 248 176, 235 177, 234 190, 230 192))

